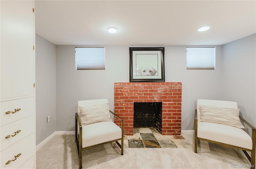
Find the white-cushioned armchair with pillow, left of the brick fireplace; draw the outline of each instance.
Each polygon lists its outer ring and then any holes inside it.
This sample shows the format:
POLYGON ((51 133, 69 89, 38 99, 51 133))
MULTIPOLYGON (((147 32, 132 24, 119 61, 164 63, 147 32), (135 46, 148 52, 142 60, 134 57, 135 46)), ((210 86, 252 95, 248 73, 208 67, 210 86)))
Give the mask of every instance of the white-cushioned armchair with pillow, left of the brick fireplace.
POLYGON ((109 110, 108 99, 78 101, 75 136, 80 169, 83 149, 115 141, 121 148, 121 155, 124 153, 124 120, 109 110), (112 122, 110 113, 121 120, 121 128, 112 122))

